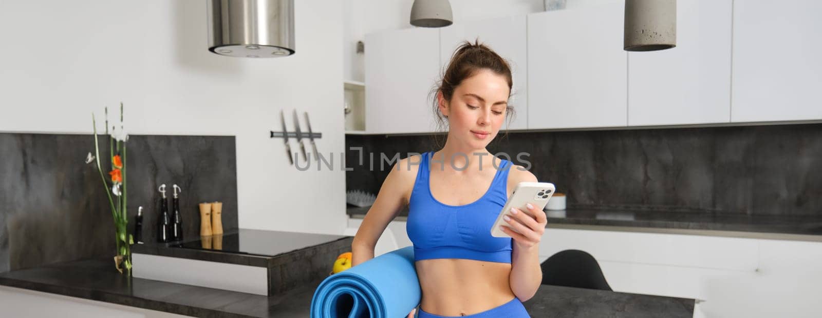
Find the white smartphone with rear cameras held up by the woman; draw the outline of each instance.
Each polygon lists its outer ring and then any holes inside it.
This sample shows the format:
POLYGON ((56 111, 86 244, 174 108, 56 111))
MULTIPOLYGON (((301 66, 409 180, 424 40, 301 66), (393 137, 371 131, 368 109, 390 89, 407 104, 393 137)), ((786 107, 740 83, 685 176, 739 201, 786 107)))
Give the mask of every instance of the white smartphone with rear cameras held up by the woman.
MULTIPOLYGON (((511 193, 510 198, 508 198, 506 206, 502 207, 500 215, 496 216, 496 221, 491 228, 491 236, 495 238, 510 238, 510 235, 502 231, 501 225, 506 225, 510 229, 514 229, 502 218, 506 215, 510 216, 511 207, 516 207, 529 216, 533 216, 528 211, 528 208, 525 207, 525 204, 531 203, 539 210, 543 210, 548 200, 551 199, 551 196, 554 194, 554 190, 554 184, 548 182, 520 182, 520 184, 517 184, 514 193, 511 193)), ((514 229, 514 231, 517 232, 516 229, 514 229)))

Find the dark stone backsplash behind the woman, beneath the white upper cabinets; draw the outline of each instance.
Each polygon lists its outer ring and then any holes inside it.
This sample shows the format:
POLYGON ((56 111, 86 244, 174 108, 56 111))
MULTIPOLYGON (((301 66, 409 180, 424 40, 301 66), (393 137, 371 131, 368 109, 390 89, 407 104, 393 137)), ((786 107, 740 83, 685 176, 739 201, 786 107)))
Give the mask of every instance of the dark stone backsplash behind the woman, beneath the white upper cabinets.
MULTIPOLYGON (((529 161, 568 207, 822 215, 822 124, 504 134, 488 151, 529 161)), ((347 135, 346 188, 376 194, 390 171, 381 153, 440 149, 433 138, 347 135)))

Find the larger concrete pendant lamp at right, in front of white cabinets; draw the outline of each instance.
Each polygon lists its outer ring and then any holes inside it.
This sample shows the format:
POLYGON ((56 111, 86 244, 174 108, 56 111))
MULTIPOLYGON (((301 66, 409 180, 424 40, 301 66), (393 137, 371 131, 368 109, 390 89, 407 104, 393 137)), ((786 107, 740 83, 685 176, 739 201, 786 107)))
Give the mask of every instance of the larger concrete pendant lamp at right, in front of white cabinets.
POLYGON ((626 0, 626 51, 657 51, 677 46, 677 0, 626 0))

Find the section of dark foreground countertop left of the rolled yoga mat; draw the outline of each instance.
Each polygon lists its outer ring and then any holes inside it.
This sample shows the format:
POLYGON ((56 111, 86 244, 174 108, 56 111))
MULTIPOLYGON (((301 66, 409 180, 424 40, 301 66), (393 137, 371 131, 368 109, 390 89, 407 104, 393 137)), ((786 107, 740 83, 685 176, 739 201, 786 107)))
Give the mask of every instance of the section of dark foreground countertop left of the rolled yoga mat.
POLYGON ((320 281, 273 296, 130 278, 111 259, 70 261, 0 274, 0 284, 199 317, 307 317, 320 281))

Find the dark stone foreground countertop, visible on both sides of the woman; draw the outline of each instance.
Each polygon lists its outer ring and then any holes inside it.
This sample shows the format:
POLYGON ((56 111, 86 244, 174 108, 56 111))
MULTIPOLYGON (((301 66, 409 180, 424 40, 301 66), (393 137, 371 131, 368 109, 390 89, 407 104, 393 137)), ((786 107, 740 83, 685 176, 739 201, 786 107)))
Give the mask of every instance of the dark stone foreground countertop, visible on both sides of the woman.
MULTIPOLYGON (((308 317, 320 281, 260 296, 129 278, 109 258, 0 273, 0 285, 187 316, 308 317)), ((533 317, 692 317, 695 301, 635 293, 542 285, 524 302, 533 317)))

